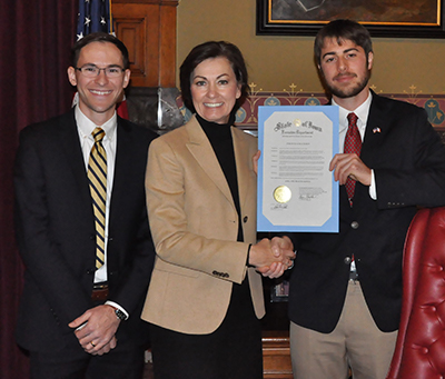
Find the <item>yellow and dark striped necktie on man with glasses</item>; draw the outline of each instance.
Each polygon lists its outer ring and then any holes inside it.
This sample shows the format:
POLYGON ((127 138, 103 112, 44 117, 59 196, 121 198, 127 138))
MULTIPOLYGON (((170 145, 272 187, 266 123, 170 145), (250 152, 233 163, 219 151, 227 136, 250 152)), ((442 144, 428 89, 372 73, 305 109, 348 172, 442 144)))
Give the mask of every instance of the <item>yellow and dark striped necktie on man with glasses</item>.
POLYGON ((92 131, 95 144, 88 161, 88 180, 92 199, 96 226, 96 268, 105 262, 105 212, 107 201, 107 153, 102 146, 105 131, 96 128, 92 131))

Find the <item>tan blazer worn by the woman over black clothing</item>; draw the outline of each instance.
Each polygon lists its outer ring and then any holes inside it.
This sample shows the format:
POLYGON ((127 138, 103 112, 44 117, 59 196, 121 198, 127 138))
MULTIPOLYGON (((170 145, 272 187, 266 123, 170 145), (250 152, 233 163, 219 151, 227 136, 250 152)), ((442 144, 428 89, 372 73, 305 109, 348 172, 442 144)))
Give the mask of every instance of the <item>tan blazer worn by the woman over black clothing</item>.
POLYGON ((261 277, 246 267, 256 242, 257 140, 231 128, 245 242, 238 215, 210 142, 198 121, 151 142, 146 176, 156 262, 142 319, 185 333, 205 335, 222 322, 233 283, 249 278, 256 316, 265 313, 261 277))

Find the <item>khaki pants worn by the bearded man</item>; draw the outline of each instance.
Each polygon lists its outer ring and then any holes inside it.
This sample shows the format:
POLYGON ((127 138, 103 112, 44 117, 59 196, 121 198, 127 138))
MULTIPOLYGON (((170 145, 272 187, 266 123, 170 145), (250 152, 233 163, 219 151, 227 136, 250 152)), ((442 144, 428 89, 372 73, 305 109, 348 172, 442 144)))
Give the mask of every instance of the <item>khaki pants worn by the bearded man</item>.
POLYGON ((385 379, 397 331, 380 331, 366 306, 358 281, 349 280, 338 325, 320 333, 290 322, 295 379, 385 379))

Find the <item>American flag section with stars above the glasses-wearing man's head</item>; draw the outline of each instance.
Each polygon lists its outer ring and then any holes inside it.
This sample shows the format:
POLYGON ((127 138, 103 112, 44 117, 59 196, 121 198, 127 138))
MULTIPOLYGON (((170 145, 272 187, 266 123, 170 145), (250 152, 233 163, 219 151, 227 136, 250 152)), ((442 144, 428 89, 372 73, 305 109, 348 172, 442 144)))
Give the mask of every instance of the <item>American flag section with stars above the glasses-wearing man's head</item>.
POLYGON ((77 39, 96 31, 113 34, 111 0, 79 0, 77 39))

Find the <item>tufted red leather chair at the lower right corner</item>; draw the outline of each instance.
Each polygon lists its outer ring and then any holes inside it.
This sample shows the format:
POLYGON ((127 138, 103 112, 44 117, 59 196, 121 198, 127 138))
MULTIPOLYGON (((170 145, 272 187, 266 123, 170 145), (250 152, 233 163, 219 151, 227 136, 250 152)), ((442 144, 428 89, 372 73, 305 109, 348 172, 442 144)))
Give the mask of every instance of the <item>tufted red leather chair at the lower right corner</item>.
POLYGON ((397 343, 387 379, 445 378, 445 207, 408 229, 397 343))

